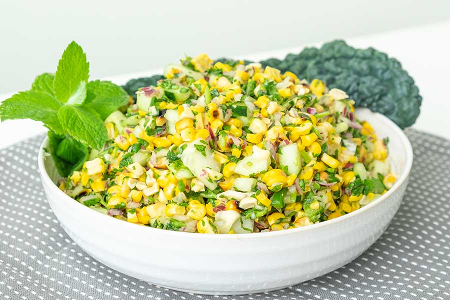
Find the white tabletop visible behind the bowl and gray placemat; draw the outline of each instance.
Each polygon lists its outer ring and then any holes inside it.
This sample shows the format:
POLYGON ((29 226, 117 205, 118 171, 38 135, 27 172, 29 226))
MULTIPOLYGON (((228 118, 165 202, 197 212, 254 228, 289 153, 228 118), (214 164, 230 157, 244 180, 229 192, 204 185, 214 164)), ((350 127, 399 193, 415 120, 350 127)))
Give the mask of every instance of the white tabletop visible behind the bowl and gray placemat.
MULTIPOLYGON (((345 38, 354 47, 372 46, 389 56, 397 58, 414 78, 423 96, 421 113, 413 128, 450 138, 450 99, 446 92, 450 77, 450 21, 432 25, 411 27, 401 30, 345 38)), ((321 43, 313 44, 315 46, 321 43)), ((269 57, 282 58, 289 52, 298 53, 305 45, 278 49, 268 52, 244 54, 241 57, 261 60, 269 57)), ((152 59, 149 57, 148 59, 152 59)), ((148 76, 162 72, 158 69, 145 72, 122 74, 101 79, 123 84, 128 79, 148 76)), ((9 94, 0 95, 0 101, 9 94)), ((40 123, 32 120, 7 120, 0 123, 0 148, 19 140, 35 136, 46 131, 40 123)))

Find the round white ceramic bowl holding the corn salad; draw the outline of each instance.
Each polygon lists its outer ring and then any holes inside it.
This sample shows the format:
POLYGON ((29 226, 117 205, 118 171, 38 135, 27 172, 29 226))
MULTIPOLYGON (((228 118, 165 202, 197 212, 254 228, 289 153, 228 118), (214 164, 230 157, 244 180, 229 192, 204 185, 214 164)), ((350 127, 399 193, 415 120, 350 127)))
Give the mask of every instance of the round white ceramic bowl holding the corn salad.
POLYGON ((67 234, 87 253, 124 274, 171 289, 244 294, 290 286, 328 273, 366 250, 400 205, 412 164, 409 140, 385 116, 358 109, 378 137, 389 137, 394 186, 368 205, 318 224, 252 234, 199 234, 138 226, 73 200, 54 182, 51 156, 38 154, 48 202, 67 234))

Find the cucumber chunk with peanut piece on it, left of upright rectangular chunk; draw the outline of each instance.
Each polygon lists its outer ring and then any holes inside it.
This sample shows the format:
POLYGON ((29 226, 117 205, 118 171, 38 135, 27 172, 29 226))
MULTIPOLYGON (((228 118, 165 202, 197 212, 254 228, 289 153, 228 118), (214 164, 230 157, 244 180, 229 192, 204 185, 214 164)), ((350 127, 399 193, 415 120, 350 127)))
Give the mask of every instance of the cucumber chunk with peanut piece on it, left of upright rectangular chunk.
POLYGON ((253 153, 237 162, 234 172, 249 176, 266 171, 270 164, 270 152, 253 146, 253 153))

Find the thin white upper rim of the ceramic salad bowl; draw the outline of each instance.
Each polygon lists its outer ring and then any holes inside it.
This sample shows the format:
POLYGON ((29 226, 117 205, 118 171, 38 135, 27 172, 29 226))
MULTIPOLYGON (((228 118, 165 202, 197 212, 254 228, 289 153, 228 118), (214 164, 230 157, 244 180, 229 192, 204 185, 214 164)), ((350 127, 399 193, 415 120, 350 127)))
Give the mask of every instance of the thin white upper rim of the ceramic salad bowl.
MULTIPOLYGON (((364 110, 368 110, 366 108, 362 108, 364 110)), ((297 232, 303 232, 303 231, 310 231, 310 230, 317 230, 321 227, 328 227, 328 226, 332 226, 333 224, 337 223, 337 222, 342 222, 346 219, 349 218, 353 218, 355 217, 357 214, 363 213, 366 210, 372 209, 372 207, 377 206, 378 204, 380 204, 381 202, 385 201, 387 198, 389 198, 389 196, 391 194, 393 194, 401 185, 402 183, 407 179, 411 167, 412 167, 412 160, 413 160, 413 151, 412 151, 412 146, 411 143, 409 141, 409 139, 406 137, 406 135, 404 134, 403 130, 401 130, 394 122, 392 122, 389 118, 387 118, 386 116, 377 113, 377 112, 372 112, 370 111, 370 113, 373 113, 376 117, 381 118, 381 120, 386 123, 386 125, 389 127, 389 129, 391 129, 399 138, 401 143, 404 145, 405 147, 405 167, 402 171, 402 173, 400 174, 400 176, 398 177, 397 181, 395 182, 395 184, 392 186, 392 188, 390 188, 389 190, 387 190, 386 193, 384 193, 383 195, 381 195, 379 198, 375 199, 374 201, 370 202, 369 204, 355 210, 352 211, 350 213, 347 213, 345 215, 342 215, 340 217, 337 218, 333 218, 331 220, 326 220, 323 222, 319 222, 316 224, 312 224, 309 226, 303 226, 303 227, 298 227, 298 228, 292 228, 289 230, 277 230, 277 231, 268 231, 268 232, 257 232, 255 234, 250 234, 250 233, 235 233, 235 234, 199 234, 198 232, 180 232, 180 231, 172 231, 172 230, 164 230, 164 229, 160 229, 160 228, 153 228, 150 226, 136 226, 136 224, 134 223, 130 223, 130 222, 126 222, 123 220, 119 220, 116 219, 114 217, 110 217, 106 214, 100 213, 98 211, 95 211, 94 209, 91 209, 81 203, 79 203, 78 201, 74 201, 73 198, 71 198, 70 196, 68 196, 67 194, 65 194, 61 189, 59 189, 59 187, 51 180, 50 176, 48 175, 45 166, 44 166, 44 157, 46 157, 47 155, 49 155, 48 153, 46 153, 46 151, 44 150, 45 146, 48 143, 48 137, 45 136, 44 140, 42 141, 40 147, 39 147, 39 151, 37 154, 37 163, 38 163, 38 168, 39 168, 39 173, 41 175, 42 178, 42 184, 48 186, 53 193, 60 195, 61 200, 63 199, 64 201, 70 201, 71 203, 77 203, 78 205, 80 205, 79 207, 83 207, 81 209, 84 209, 84 211, 86 212, 86 214, 91 214, 92 217, 95 217, 95 215, 99 218, 104 218, 104 221, 114 221, 118 226, 131 226, 129 227, 130 230, 142 230, 139 232, 139 234, 168 234, 168 235, 173 235, 173 236, 184 236, 184 237, 192 237, 192 238, 211 238, 211 239, 216 239, 216 238, 227 238, 227 239, 247 239, 247 238, 263 238, 263 237, 268 237, 268 236, 280 236, 280 235, 285 235, 285 234, 295 234, 297 232), (121 225, 120 225, 121 224, 121 225), (146 232, 146 233, 143 233, 146 232)), ((89 216, 90 217, 90 216, 89 216)), ((112 222, 111 222, 112 224, 112 222)))

